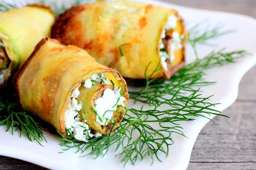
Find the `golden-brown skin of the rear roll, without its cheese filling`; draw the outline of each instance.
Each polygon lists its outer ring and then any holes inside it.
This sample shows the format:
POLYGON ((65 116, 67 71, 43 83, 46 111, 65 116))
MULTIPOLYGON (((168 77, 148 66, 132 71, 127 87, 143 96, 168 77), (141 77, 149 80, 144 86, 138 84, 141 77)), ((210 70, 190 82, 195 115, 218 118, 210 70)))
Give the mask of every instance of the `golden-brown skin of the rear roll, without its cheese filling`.
MULTIPOLYGON (((177 11, 168 8, 128 1, 96 2, 76 6, 65 11, 64 14, 57 18, 52 26, 52 38, 56 38, 66 45, 76 45, 87 50, 100 64, 120 71, 124 77, 143 79, 148 63, 151 62, 151 65, 148 67, 147 76, 154 71, 160 59, 160 49, 154 50, 153 48, 159 44, 155 37, 157 36, 160 39, 158 28, 162 27, 162 24, 155 26, 152 23, 164 24, 165 19, 163 18, 167 14, 177 15, 185 33, 183 19, 178 15, 177 11), (122 29, 118 29, 120 27, 118 24, 122 24, 121 21, 123 20, 122 12, 117 11, 116 17, 113 17, 106 10, 108 8, 111 10, 114 3, 123 3, 130 8, 144 8, 142 13, 139 13, 138 11, 140 10, 137 10, 135 13, 131 12, 131 15, 126 14, 136 20, 136 22, 131 20, 131 23, 126 27, 127 30, 124 31, 125 33, 122 33, 122 29), (106 29, 104 29, 105 26, 106 29), (119 38, 119 35, 122 35, 122 38, 119 38), (127 38, 128 35, 129 38, 127 38), (120 57, 119 46, 122 44, 130 44, 130 46, 122 46, 124 56, 120 57)), ((127 17, 126 15, 125 17, 127 17)), ((182 33, 180 32, 180 34, 182 33)), ((179 62, 185 61, 184 50, 185 43, 183 43, 183 49, 179 50, 179 56, 174 66, 178 65, 179 62), (183 51, 183 54, 181 51, 183 51)), ((168 68, 172 68, 170 64, 168 68)), ((174 71, 165 71, 163 68, 157 71, 151 78, 170 78, 173 73, 174 71)))

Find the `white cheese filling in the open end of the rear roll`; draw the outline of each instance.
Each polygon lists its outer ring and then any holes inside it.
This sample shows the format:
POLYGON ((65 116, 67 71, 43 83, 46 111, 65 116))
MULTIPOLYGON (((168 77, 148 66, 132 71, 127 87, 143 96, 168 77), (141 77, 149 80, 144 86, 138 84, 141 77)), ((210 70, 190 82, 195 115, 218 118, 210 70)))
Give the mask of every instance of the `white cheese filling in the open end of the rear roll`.
POLYGON ((177 31, 174 31, 172 33, 172 40, 170 40, 171 41, 171 43, 170 43, 171 56, 169 56, 167 51, 161 51, 165 48, 162 39, 166 37, 166 30, 171 30, 171 29, 175 28, 177 26, 177 20, 178 19, 174 14, 170 15, 168 17, 168 22, 167 22, 166 26, 164 27, 164 30, 161 35, 160 57, 161 57, 162 66, 165 70, 168 70, 166 60, 168 59, 170 61, 173 61, 175 59, 175 56, 174 56, 175 51, 180 50, 182 48, 182 44, 181 44, 182 40, 180 38, 180 35, 177 31))

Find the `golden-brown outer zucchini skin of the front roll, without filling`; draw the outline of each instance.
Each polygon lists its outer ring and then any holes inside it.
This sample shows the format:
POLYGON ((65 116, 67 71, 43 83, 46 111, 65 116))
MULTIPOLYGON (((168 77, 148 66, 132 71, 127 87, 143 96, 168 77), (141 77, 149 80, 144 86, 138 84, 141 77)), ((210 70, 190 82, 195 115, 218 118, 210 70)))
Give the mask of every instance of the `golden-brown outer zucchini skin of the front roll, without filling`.
MULTIPOLYGON (((126 82, 119 72, 100 65, 81 48, 59 44, 55 39, 41 40, 20 71, 15 74, 13 84, 17 98, 26 111, 34 113, 66 136, 65 111, 70 96, 74 89, 80 87, 81 83, 90 77, 90 74, 113 73, 114 76, 119 76, 119 85, 122 86, 122 94, 126 98, 125 106, 129 97, 126 82), (72 54, 70 51, 73 51, 72 54), (52 65, 55 61, 58 61, 58 64, 52 65), (80 75, 74 76, 74 69, 77 69, 80 75)), ((93 95, 94 92, 91 94, 93 95)), ((87 95, 88 93, 83 96, 87 95)), ((91 107, 87 109, 91 110, 91 107)), ((99 129, 95 130, 99 132, 99 129)), ((110 133, 110 130, 106 133, 110 133)))

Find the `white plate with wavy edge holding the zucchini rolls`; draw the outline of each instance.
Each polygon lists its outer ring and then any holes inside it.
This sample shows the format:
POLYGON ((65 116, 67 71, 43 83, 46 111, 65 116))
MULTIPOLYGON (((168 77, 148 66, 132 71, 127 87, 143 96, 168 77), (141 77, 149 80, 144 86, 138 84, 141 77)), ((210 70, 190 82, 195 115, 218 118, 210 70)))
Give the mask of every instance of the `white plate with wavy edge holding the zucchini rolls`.
MULTIPOLYGON (((185 19, 188 27, 208 18, 212 26, 215 26, 217 23, 225 23, 226 29, 236 29, 235 33, 211 41, 214 44, 218 44, 218 47, 198 46, 198 52, 201 57, 215 48, 219 49, 222 47, 226 47, 227 51, 244 49, 253 54, 253 56, 239 59, 235 64, 224 65, 207 71, 207 79, 217 81, 217 83, 202 87, 202 91, 204 91, 203 94, 205 96, 214 94, 210 102, 222 103, 222 105, 216 107, 217 110, 223 111, 229 107, 236 100, 238 86, 242 76, 256 63, 256 20, 240 14, 187 8, 157 0, 140 1, 176 9, 185 19)), ((187 62, 195 59, 190 47, 187 48, 186 56, 187 62)), ((213 116, 211 118, 213 118, 213 116)), ((175 144, 170 147, 169 157, 163 159, 163 162, 155 161, 151 166, 150 162, 145 160, 138 162, 135 166, 127 164, 125 169, 185 170, 189 164, 191 151, 198 133, 207 122, 209 122, 209 120, 203 117, 198 117, 193 122, 183 122, 181 126, 184 127, 183 132, 188 139, 182 136, 175 136, 175 144)), ((74 154, 76 150, 68 150, 59 154, 58 152, 60 152, 62 148, 58 146, 57 140, 51 138, 51 134, 49 133, 44 132, 48 143, 43 143, 44 147, 41 147, 36 142, 30 142, 25 136, 20 138, 18 132, 11 135, 10 132, 5 132, 5 130, 6 126, 0 126, 0 155, 3 156, 22 159, 52 170, 123 169, 123 164, 120 163, 120 160, 116 159, 114 153, 111 152, 108 153, 105 158, 95 160, 90 156, 79 157, 79 153, 74 154)))

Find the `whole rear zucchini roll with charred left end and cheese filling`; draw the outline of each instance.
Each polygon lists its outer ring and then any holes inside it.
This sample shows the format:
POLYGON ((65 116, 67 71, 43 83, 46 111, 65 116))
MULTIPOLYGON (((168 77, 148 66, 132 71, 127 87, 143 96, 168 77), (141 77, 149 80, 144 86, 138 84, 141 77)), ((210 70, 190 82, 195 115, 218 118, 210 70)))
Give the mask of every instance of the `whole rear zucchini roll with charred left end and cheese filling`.
POLYGON ((53 38, 131 79, 145 79, 146 68, 146 77, 169 79, 184 65, 186 34, 177 11, 129 1, 76 6, 52 26, 53 38))

